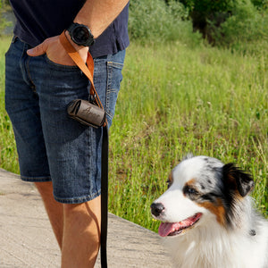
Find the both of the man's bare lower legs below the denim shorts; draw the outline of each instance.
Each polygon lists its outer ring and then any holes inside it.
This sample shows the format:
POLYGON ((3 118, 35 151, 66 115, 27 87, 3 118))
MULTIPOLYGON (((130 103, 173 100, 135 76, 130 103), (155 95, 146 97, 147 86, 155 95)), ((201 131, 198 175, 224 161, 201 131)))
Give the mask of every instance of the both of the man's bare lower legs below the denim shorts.
POLYGON ((51 182, 37 182, 54 235, 62 249, 62 268, 94 267, 100 240, 100 197, 86 203, 54 200, 51 182))

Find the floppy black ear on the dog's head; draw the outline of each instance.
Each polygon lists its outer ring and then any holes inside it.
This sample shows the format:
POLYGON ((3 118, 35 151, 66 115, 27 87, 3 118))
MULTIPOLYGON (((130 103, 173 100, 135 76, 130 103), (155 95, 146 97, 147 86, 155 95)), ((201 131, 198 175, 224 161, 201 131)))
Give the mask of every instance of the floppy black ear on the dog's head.
POLYGON ((239 170, 233 163, 225 164, 222 172, 226 187, 232 190, 238 190, 241 197, 246 197, 254 188, 254 180, 252 180, 251 176, 239 170))

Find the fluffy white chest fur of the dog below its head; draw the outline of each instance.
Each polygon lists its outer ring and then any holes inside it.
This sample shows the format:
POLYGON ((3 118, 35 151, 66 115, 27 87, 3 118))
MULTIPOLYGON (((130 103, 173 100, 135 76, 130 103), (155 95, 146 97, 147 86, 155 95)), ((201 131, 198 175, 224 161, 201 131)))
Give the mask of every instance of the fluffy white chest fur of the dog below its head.
POLYGON ((267 268, 267 222, 259 230, 261 234, 252 237, 243 231, 230 233, 221 226, 207 226, 164 238, 163 243, 178 268, 267 268))

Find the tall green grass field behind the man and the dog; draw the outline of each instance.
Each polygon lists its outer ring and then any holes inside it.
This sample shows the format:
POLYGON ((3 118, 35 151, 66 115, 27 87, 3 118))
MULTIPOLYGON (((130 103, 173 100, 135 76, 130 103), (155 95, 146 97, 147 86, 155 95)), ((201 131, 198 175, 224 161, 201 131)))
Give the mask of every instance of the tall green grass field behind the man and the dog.
MULTIPOLYGON (((0 42, 0 166, 19 172, 4 112, 7 43, 0 42)), ((123 75, 110 131, 110 212, 157 230, 150 204, 172 167, 192 152, 251 172, 257 208, 268 217, 267 50, 242 55, 179 42, 132 43, 123 75)))

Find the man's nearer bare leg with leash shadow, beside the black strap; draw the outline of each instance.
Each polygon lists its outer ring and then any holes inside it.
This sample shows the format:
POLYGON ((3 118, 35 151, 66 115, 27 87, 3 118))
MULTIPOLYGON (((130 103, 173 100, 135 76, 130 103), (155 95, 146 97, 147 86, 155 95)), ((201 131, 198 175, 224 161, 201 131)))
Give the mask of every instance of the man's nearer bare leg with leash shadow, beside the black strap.
POLYGON ((62 268, 94 267, 100 243, 100 197, 63 205, 62 268))

